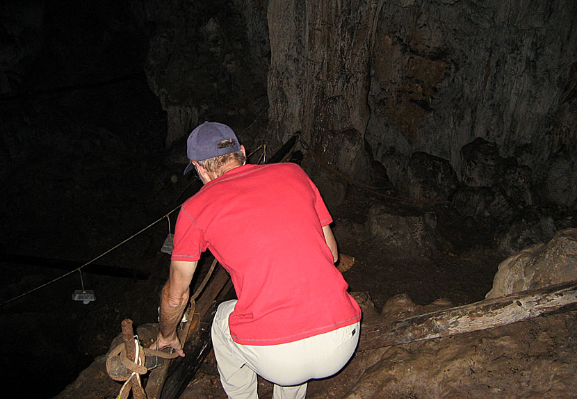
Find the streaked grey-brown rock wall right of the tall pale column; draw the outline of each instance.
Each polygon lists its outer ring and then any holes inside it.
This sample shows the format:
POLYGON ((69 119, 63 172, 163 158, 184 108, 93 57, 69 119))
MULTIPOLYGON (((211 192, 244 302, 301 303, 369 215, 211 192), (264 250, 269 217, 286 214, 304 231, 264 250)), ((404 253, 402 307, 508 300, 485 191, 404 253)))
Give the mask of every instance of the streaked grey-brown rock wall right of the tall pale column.
POLYGON ((391 180, 415 151, 459 172, 477 137, 537 180, 550 156, 574 154, 576 15, 562 0, 383 2, 366 139, 391 180))

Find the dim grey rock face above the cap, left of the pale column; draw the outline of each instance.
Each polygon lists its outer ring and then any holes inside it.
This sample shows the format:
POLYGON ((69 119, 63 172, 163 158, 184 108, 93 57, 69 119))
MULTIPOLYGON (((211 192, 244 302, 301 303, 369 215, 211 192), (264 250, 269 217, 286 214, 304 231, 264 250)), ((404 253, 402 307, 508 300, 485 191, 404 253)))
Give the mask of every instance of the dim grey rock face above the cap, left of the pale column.
POLYGON ((168 114, 167 147, 202 120, 266 107, 269 44, 258 1, 147 3, 154 31, 145 72, 168 114))

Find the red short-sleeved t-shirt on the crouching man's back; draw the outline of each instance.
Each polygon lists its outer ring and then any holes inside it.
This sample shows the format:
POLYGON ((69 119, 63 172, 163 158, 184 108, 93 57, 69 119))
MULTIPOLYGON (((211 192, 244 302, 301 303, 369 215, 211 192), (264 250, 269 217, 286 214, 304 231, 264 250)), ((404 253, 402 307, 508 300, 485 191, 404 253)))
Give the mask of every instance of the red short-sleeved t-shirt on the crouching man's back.
POLYGON ((331 222, 298 165, 244 165, 183 204, 172 259, 196 261, 208 248, 230 273, 238 298, 229 318, 236 343, 298 341, 361 318, 325 242, 323 226, 331 222))

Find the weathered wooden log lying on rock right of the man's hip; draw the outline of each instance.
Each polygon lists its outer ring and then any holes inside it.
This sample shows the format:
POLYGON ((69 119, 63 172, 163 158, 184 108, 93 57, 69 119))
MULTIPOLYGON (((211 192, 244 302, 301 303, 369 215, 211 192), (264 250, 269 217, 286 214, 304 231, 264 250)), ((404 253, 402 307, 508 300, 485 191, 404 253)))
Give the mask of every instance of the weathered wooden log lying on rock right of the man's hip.
POLYGON ((577 309, 577 281, 555 284, 361 330, 359 351, 500 327, 577 309))

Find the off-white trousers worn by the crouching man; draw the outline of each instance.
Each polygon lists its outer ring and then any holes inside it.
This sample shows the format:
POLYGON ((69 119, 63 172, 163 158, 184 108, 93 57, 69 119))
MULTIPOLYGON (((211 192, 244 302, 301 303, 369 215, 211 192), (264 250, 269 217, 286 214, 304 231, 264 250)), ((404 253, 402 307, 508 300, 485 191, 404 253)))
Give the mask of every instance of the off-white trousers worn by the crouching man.
POLYGON ((238 344, 228 323, 235 304, 220 304, 212 325, 220 382, 229 399, 257 399, 257 374, 275 384, 273 399, 303 399, 308 380, 339 372, 357 348, 360 322, 279 345, 238 344))

